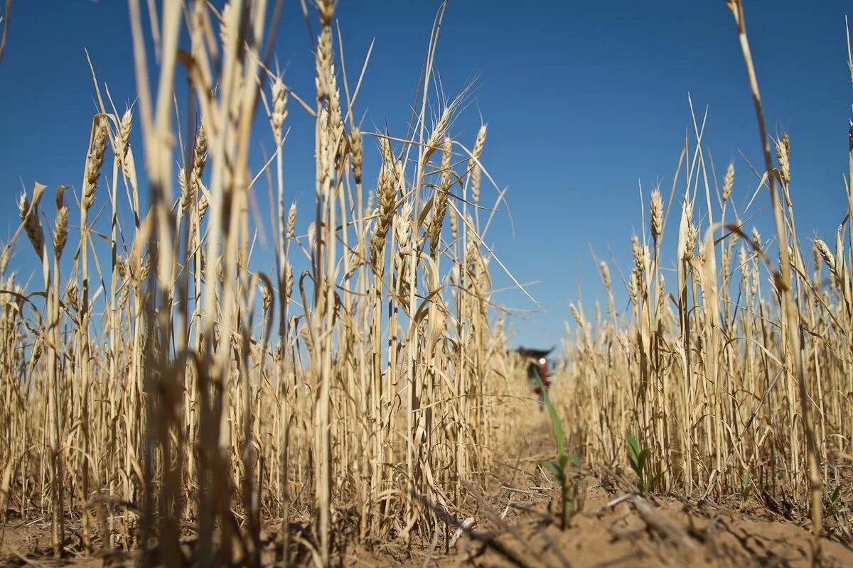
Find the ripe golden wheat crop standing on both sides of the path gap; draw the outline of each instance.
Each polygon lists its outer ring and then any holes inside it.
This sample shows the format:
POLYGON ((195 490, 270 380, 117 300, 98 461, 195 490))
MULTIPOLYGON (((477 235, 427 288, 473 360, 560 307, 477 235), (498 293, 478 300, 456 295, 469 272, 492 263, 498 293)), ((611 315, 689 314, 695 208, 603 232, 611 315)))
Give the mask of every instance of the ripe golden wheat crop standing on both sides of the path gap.
POLYGON ((342 69, 332 0, 305 8, 313 85, 270 64, 280 3, 166 1, 156 58, 129 7, 133 105, 96 87, 82 184, 29 181, 0 244, 0 521, 47 535, 12 565, 595 565, 560 547, 607 531, 592 502, 668 542, 647 565, 678 565, 699 539, 661 520, 676 501, 790 525, 807 550, 789 565, 853 562, 853 129, 847 216, 834 243, 809 238, 740 0, 763 164, 718 177, 694 122, 633 264, 595 264, 606 306, 570 305, 543 412, 492 288, 499 272, 523 290, 485 238, 488 129, 458 135, 467 93, 437 92, 444 4, 403 132, 357 122, 369 57, 342 69), (312 140, 288 137, 294 112, 312 140), (252 169, 258 139, 273 150, 252 169), (314 155, 303 227, 293 144, 314 155), (274 204, 272 266, 254 192, 274 204), (757 194, 772 235, 751 225, 757 194))

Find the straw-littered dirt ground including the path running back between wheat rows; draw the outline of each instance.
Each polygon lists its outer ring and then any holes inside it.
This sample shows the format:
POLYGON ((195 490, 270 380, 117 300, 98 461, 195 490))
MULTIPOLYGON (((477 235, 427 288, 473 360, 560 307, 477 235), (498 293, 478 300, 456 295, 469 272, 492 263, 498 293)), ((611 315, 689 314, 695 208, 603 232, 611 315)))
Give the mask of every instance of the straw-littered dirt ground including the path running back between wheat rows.
MULTIPOLYGON (((553 457, 544 416, 535 419, 514 456, 495 464, 494 479, 470 487, 470 531, 445 552, 445 538, 409 548, 389 542, 368 551, 351 547, 339 562, 363 566, 525 566, 616 568, 658 566, 808 566, 809 532, 765 508, 728 508, 711 502, 656 496, 643 499, 618 475, 579 476, 582 510, 565 531, 554 522, 556 491, 538 471, 553 457)), ((452 530, 451 530, 452 531, 452 530)), ((276 548, 270 537, 267 551, 276 548)), ((123 554, 55 561, 49 558, 49 524, 9 523, 0 528, 0 566, 131 565, 123 554)), ((823 543, 824 565, 853 567, 850 543, 823 543)), ((304 557, 305 559, 305 557, 304 557)))

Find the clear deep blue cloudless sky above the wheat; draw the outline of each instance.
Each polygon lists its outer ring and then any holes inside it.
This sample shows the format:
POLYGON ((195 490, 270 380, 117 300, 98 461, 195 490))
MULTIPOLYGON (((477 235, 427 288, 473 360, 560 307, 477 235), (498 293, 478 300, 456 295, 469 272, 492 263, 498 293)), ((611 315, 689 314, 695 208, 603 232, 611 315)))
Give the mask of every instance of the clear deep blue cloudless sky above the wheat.
MULTIPOLYGON (((646 192, 660 182, 668 195, 691 125, 688 93, 697 112, 710 108, 705 144, 718 175, 735 161, 736 203, 755 186, 738 150, 760 163, 746 72, 722 0, 547 4, 451 1, 436 63, 450 95, 479 76, 456 134, 470 144, 480 114, 489 124, 485 165, 508 186, 514 219, 513 235, 507 215, 499 215, 489 244, 520 281, 539 281, 530 291, 546 310, 529 314, 531 322, 514 323, 514 343, 528 346, 559 343, 563 322, 571 318, 568 302, 578 293, 591 311, 600 286, 590 246, 604 257, 609 247, 622 267, 629 266, 630 237, 640 230, 638 182, 646 192)), ((357 102, 366 127, 387 123, 392 134, 405 132, 437 6, 339 3, 351 77, 375 38, 357 102)), ((846 207, 848 6, 746 0, 769 129, 786 129, 792 137, 792 199, 803 237, 816 231, 832 238, 846 207)), ((278 36, 287 83, 310 95, 313 57, 297 0, 286 1, 278 36)), ((125 2, 13 2, 0 63, 0 238, 17 223, 21 181, 27 189, 33 181, 80 184, 95 111, 84 48, 122 110, 135 96, 125 2)), ((295 105, 290 112, 287 192, 299 199, 305 227, 313 199, 313 177, 304 165, 313 164, 312 134, 299 118, 304 113, 295 105)), ((757 225, 769 234, 767 210, 758 216, 757 225)), ((264 255, 269 251, 258 260, 264 255)), ((31 256, 19 245, 14 264, 24 276, 32 273, 31 256)), ((506 284, 496 276, 496 287, 506 284)), ((499 299, 533 307, 517 292, 499 299)))

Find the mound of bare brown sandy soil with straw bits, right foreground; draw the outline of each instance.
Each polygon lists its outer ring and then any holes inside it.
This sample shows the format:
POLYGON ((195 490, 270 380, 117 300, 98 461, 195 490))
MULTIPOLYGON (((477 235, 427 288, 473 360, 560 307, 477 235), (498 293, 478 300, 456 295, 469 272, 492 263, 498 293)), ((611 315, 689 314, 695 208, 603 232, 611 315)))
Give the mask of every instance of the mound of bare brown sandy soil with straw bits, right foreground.
MULTIPOLYGON (((791 522, 674 498, 586 493, 566 531, 544 510, 489 523, 461 540, 456 554, 411 565, 438 566, 808 566, 808 531, 791 522)), ((825 566, 853 566, 853 549, 824 542, 825 566)), ((372 559, 372 565, 395 565, 372 559)), ((352 566, 363 565, 353 559, 352 566)))

